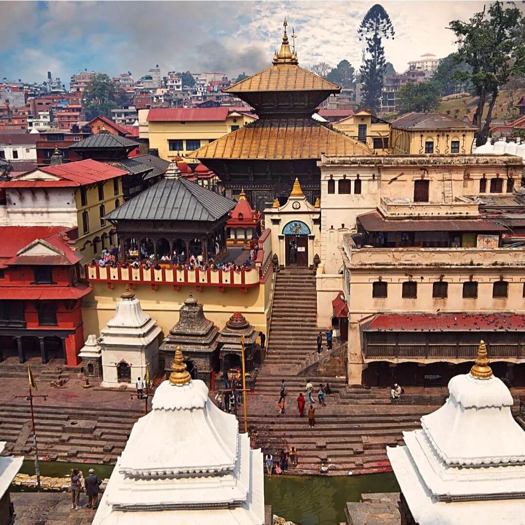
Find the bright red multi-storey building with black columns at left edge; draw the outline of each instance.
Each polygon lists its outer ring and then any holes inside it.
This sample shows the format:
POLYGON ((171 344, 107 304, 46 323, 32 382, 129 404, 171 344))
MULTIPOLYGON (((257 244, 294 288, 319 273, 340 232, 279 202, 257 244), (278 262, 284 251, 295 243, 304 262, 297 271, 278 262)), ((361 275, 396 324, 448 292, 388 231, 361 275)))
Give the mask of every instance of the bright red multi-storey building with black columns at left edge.
POLYGON ((0 360, 79 364, 84 342, 81 257, 62 226, 0 227, 0 360))

